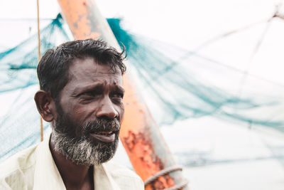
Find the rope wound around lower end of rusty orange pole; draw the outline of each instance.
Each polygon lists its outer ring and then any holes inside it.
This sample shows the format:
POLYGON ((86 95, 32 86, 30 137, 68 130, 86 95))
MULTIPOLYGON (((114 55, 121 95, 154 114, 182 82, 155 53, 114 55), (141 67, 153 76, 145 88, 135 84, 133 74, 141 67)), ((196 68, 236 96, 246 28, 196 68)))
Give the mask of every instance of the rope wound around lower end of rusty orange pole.
MULTIPOLYGON (((153 181, 155 181, 156 179, 158 179, 158 177, 163 176, 165 174, 168 174, 172 171, 178 171, 178 170, 182 170, 182 167, 180 166, 172 166, 172 167, 168 167, 166 169, 160 170, 158 171, 156 174, 154 174, 153 176, 149 177, 145 182, 144 185, 148 185, 151 184, 153 181)), ((188 181, 182 181, 182 183, 175 185, 175 186, 171 186, 168 189, 164 189, 164 190, 176 190, 176 189, 181 189, 182 187, 185 187, 187 185, 188 181)))

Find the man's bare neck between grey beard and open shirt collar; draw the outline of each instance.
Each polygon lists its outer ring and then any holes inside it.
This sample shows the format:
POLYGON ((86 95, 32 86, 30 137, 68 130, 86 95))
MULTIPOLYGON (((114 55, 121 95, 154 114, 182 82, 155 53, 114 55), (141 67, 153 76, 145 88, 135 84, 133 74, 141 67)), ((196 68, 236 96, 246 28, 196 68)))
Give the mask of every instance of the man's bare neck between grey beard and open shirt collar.
POLYGON ((75 164, 66 159, 60 152, 55 151, 54 143, 51 140, 49 145, 50 152, 67 190, 94 189, 93 167, 75 164))

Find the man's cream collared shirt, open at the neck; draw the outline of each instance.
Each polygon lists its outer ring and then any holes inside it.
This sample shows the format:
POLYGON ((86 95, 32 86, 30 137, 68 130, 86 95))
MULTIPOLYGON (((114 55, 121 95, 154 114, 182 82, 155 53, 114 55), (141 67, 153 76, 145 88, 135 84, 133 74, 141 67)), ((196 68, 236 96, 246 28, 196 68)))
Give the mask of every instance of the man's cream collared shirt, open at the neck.
MULTIPOLYGON (((0 164, 0 189, 66 189, 49 149, 49 138, 0 164)), ((107 162, 94 166, 94 189, 141 190, 143 181, 133 171, 107 162)))

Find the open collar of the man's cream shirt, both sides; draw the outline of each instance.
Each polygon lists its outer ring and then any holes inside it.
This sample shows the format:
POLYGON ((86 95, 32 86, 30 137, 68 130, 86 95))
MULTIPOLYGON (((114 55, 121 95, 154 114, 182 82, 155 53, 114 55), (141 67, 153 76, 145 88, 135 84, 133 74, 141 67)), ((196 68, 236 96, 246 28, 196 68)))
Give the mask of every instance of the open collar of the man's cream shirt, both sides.
MULTIPOLYGON (((50 152, 49 142, 50 135, 43 142, 40 142, 37 149, 35 149, 36 163, 33 189, 65 190, 65 185, 50 152)), ((94 189, 120 189, 104 164, 94 166, 94 189)))

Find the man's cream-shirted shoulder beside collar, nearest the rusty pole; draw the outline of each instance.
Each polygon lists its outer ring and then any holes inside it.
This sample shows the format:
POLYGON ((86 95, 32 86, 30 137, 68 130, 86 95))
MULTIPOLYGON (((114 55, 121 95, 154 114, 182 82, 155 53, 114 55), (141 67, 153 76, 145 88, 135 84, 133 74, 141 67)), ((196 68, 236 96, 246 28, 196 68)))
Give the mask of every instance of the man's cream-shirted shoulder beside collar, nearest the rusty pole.
POLYGON ((121 189, 144 189, 142 179, 131 169, 115 162, 107 162, 104 167, 121 189))

